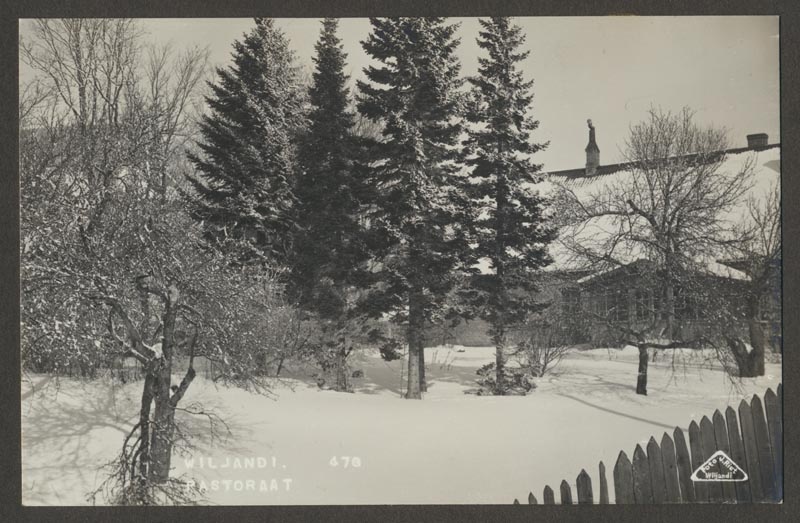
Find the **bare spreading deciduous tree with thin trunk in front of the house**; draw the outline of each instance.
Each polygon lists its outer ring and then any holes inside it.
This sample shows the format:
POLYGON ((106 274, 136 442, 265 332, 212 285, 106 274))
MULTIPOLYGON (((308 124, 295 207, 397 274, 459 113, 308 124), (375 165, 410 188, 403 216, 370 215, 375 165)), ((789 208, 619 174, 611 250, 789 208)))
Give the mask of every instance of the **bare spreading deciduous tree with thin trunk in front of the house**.
POLYGON ((628 271, 655 295, 648 305, 652 313, 638 323, 617 317, 621 311, 613 307, 614 318, 586 311, 620 341, 639 348, 638 394, 647 393, 648 348, 702 342, 702 333, 679 332, 676 304, 715 290, 720 278, 709 274, 708 262, 738 241, 724 214, 751 187, 753 162, 728 171, 727 148, 725 132, 698 126, 688 108, 677 114, 651 109, 647 120, 630 129, 625 175, 609 175, 587 194, 560 186, 568 221, 560 242, 573 261, 596 272, 628 271), (647 263, 634 268, 638 260, 647 263))

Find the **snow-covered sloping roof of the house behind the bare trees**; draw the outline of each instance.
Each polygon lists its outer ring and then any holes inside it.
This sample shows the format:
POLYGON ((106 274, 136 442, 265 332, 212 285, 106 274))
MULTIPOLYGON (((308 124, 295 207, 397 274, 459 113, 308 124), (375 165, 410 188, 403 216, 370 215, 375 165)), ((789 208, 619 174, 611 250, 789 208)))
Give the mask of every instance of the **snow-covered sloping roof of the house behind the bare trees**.
MULTIPOLYGON (((729 149, 721 151, 725 155, 720 167, 723 174, 734 174, 747 163, 753 162, 753 184, 744 199, 752 198, 757 202, 764 202, 770 189, 780 183, 780 144, 769 145, 757 149, 729 149)), ((591 195, 598 194, 612 187, 625 185, 627 180, 634 176, 631 164, 615 164, 600 166, 596 174, 586 175, 585 169, 570 169, 549 172, 545 181, 537 184, 536 188, 543 194, 554 194, 556 188, 564 186, 571 190, 581 202, 587 201, 591 195)), ((737 206, 722 215, 722 220, 738 224, 746 219, 748 209, 746 205, 737 206)), ((579 238, 581 245, 590 247, 600 246, 611 237, 618 225, 609 216, 594 218, 580 225, 580 228, 571 229, 574 238, 579 238)), ((566 229, 565 229, 566 231, 566 229)), ((550 253, 554 263, 549 270, 569 270, 581 266, 571 249, 565 245, 566 234, 550 246, 550 253)), ((615 259, 623 263, 632 263, 642 258, 640 248, 636 245, 620 245, 616 248, 615 259)), ((708 259, 702 263, 709 273, 719 276, 746 279, 747 276, 728 265, 719 263, 714 253, 709 253, 708 259)))

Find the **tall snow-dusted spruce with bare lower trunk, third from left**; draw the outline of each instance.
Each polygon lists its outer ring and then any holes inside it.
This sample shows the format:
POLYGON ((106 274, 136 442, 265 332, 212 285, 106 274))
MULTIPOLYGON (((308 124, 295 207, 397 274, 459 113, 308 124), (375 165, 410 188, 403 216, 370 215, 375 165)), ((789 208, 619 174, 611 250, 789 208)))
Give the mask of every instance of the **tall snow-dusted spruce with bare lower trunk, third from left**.
POLYGON ((424 390, 424 330, 441 320, 466 243, 459 176, 460 64, 456 25, 443 18, 372 18, 362 42, 378 64, 358 82, 361 113, 383 124, 372 150, 370 206, 379 284, 368 305, 405 326, 406 398, 424 390))

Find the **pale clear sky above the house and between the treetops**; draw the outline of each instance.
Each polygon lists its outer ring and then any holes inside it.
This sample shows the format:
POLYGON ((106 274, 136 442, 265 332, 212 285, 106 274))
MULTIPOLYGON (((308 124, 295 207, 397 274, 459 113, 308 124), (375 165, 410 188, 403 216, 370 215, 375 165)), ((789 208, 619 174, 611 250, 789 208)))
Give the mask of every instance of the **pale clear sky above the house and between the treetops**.
MULTIPOLYGON (((474 75, 481 54, 476 18, 460 24, 462 74, 474 75)), ((704 126, 724 127, 731 147, 764 132, 780 142, 777 16, 720 17, 519 17, 529 57, 522 63, 534 80, 532 114, 540 121, 536 142, 550 142, 535 160, 548 171, 582 167, 586 120, 597 129, 601 164, 621 160, 629 126, 651 106, 677 111, 689 106, 704 126)), ((20 21, 24 38, 28 21, 20 21)), ((176 48, 208 46, 216 66, 230 63, 231 44, 252 19, 143 19, 146 38, 176 48)), ((311 70, 319 19, 279 19, 301 64, 311 70)), ((361 47, 366 18, 340 21, 351 81, 362 77, 369 57, 361 47)), ((25 71, 20 78, 24 81, 25 71)))

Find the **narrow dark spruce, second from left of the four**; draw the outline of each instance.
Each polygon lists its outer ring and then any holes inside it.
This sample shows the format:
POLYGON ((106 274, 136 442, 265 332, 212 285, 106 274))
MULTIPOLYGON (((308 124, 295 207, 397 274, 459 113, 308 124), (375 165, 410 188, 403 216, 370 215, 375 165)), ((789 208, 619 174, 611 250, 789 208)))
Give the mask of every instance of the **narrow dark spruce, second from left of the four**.
POLYGON ((316 44, 308 131, 300 141, 291 282, 300 306, 320 321, 321 360, 332 366, 335 388, 346 390, 347 333, 354 290, 363 276, 359 185, 353 161, 354 115, 348 110, 346 54, 338 21, 326 18, 316 44))

